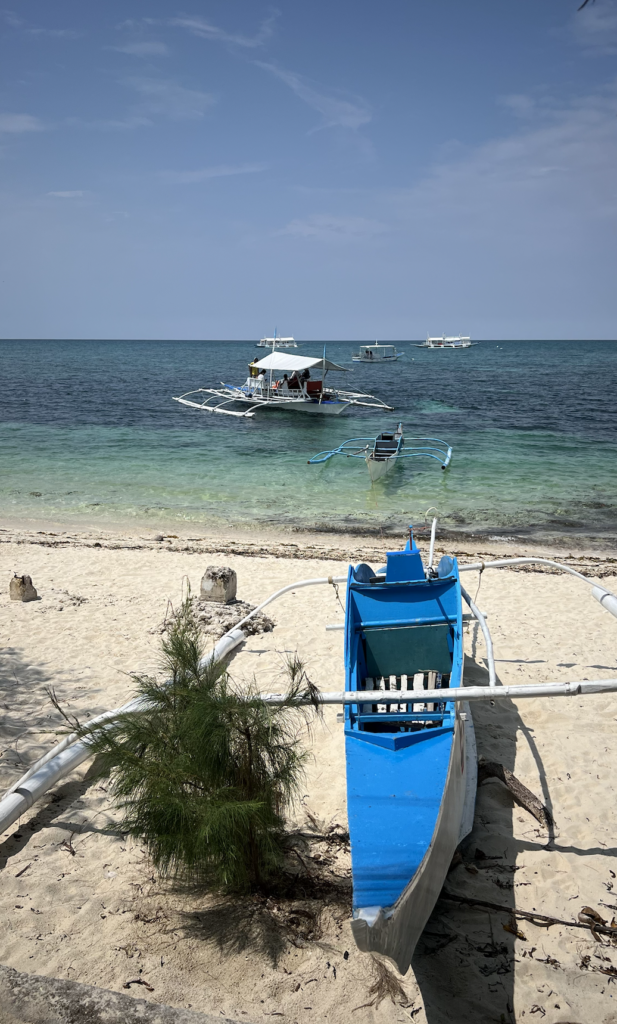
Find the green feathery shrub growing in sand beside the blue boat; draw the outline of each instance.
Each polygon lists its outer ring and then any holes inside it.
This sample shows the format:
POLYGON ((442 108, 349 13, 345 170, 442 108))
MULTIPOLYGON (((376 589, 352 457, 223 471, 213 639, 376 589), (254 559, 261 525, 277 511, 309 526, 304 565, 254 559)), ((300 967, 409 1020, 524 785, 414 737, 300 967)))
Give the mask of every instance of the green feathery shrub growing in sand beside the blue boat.
POLYGON ((266 705, 220 663, 202 665, 203 653, 187 598, 163 642, 171 682, 137 678, 141 709, 82 734, 97 773, 111 778, 122 829, 145 844, 163 874, 246 890, 283 863, 314 689, 296 657, 283 702, 266 705))

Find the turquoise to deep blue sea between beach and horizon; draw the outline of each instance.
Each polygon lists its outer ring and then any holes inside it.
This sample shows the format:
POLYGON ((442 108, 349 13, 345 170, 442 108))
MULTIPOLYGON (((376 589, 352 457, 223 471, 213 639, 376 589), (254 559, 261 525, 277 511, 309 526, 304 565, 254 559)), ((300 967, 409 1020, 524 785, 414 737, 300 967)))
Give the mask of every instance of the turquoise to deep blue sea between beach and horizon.
POLYGON ((241 383, 254 342, 0 341, 0 515, 389 531, 435 506, 465 534, 617 541, 617 343, 407 342, 383 367, 352 365, 356 347, 327 345, 353 366, 343 386, 394 413, 236 420, 171 400, 241 383), (307 465, 398 420, 451 443, 451 467, 414 460, 371 486, 360 460, 307 465))

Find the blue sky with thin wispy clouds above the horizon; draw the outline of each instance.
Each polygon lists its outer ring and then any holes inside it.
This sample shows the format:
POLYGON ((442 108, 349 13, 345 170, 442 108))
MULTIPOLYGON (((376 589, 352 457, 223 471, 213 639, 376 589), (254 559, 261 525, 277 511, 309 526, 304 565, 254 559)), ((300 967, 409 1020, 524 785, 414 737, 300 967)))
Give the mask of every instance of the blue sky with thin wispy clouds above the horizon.
POLYGON ((617 0, 23 0, 0 334, 616 338, 617 0))

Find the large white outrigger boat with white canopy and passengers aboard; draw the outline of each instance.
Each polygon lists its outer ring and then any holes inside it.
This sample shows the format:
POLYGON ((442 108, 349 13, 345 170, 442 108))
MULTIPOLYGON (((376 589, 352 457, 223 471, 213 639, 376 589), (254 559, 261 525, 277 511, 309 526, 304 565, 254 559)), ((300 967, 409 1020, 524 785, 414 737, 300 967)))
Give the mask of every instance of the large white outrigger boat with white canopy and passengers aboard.
POLYGON ((328 373, 348 371, 326 359, 325 349, 321 358, 274 351, 250 362, 249 371, 246 382, 238 387, 221 383, 220 387, 197 388, 174 397, 174 401, 203 413, 244 417, 255 416, 260 409, 321 416, 340 416, 350 406, 392 411, 391 406, 372 394, 328 387, 328 373), (311 371, 319 378, 312 378, 311 371))

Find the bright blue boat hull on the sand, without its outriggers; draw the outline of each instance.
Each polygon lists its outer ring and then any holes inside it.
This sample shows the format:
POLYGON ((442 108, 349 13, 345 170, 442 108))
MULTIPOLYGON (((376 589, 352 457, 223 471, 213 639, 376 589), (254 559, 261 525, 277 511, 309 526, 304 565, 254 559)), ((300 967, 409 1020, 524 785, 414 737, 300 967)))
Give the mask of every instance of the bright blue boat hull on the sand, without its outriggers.
POLYGON ((462 683, 458 567, 425 571, 409 529, 385 569, 350 566, 347 593, 345 685, 367 695, 345 709, 352 929, 404 974, 474 818, 472 716, 447 698, 462 683))

